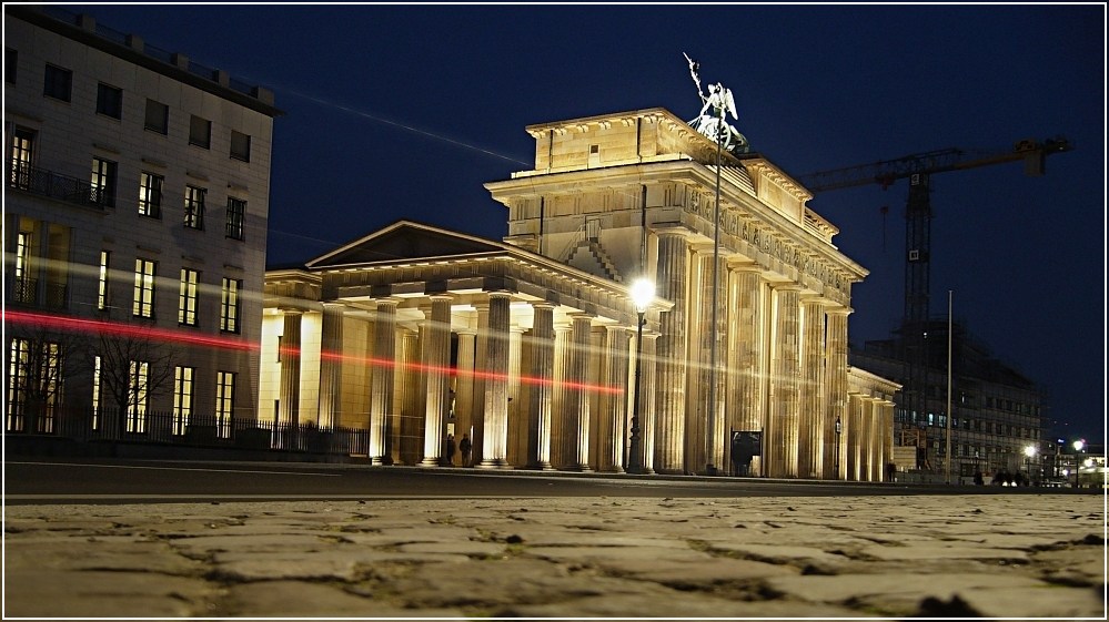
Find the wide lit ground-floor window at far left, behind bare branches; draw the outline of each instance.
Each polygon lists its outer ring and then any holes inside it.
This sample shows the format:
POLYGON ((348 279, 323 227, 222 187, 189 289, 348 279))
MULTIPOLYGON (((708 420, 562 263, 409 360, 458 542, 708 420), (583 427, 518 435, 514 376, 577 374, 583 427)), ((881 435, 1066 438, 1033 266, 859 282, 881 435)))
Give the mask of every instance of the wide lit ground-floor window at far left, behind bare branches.
POLYGON ((8 356, 7 430, 51 434, 61 388, 61 346, 14 338, 8 356))

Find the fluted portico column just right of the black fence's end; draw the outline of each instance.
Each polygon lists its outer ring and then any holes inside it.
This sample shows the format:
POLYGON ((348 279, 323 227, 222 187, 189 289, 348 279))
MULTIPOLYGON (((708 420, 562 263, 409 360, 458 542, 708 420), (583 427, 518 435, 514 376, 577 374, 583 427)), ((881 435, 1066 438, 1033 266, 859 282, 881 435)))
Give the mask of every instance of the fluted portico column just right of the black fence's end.
POLYGON ((373 376, 370 379, 370 448, 373 465, 386 465, 389 419, 393 411, 393 380, 396 369, 396 305, 399 300, 377 300, 373 325, 373 376))

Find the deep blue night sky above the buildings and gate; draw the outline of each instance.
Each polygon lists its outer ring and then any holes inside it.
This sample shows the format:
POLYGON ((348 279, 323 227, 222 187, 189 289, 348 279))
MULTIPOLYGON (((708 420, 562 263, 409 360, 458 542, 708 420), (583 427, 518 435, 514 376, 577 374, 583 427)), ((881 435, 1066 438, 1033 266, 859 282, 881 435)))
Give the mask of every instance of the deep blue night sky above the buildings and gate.
MULTIPOLYGON (((1106 387, 1105 7, 82 6, 150 45, 271 88, 269 263, 401 218, 500 239, 482 186, 532 167, 533 123, 700 109, 683 52, 793 174, 1066 136, 1020 163, 932 177, 931 313, 1049 392, 1052 434, 1101 440, 1106 387)), ((818 195, 870 271, 853 343, 904 305, 905 181, 818 195), (888 213, 883 213, 883 207, 888 213)))

